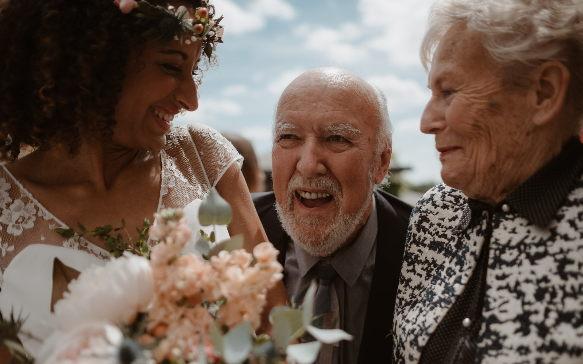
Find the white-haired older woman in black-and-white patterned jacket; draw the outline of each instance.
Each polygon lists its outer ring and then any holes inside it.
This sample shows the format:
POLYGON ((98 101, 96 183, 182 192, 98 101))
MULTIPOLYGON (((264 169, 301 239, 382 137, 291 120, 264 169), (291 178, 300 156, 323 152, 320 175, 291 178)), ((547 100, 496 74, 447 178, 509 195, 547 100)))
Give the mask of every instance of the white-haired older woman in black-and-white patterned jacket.
POLYGON ((395 363, 583 362, 583 1, 437 2, 395 363))

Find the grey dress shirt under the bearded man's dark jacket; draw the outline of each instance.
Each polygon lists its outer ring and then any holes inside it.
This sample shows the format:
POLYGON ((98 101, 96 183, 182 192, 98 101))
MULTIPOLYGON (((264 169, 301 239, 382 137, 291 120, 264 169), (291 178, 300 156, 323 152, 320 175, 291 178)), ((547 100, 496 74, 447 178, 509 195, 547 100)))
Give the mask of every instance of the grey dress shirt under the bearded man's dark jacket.
MULTIPOLYGON (((335 292, 338 298, 337 301, 332 298, 332 310, 336 307, 339 312, 336 327, 354 336, 353 341, 340 342, 338 361, 333 361, 333 364, 354 364, 358 361, 370 285, 373 281, 377 231, 377 206, 373 197, 373 211, 354 243, 325 258, 338 273, 332 289, 332 295, 335 292)), ((317 273, 311 268, 320 260, 322 257, 312 256, 293 241, 288 242, 283 284, 287 295, 295 303, 304 301, 310 282, 317 280, 317 273)))

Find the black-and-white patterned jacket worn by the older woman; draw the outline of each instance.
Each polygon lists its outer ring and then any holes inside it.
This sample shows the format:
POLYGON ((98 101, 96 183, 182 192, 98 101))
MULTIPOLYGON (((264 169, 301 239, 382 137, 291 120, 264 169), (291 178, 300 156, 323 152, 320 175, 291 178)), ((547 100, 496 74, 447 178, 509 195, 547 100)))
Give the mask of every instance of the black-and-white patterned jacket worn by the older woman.
POLYGON ((492 224, 476 363, 583 362, 583 178, 547 228, 517 213, 482 215, 454 234, 466 207, 435 186, 409 222, 395 303, 394 362, 421 352, 468 282, 492 224))

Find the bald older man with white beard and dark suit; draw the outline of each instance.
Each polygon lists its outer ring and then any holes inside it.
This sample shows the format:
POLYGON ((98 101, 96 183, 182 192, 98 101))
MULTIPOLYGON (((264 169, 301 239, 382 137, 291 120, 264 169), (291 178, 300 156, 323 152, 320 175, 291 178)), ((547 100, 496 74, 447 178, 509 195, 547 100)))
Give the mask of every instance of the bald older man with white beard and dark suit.
POLYGON ((287 294, 301 303, 317 280, 316 314, 324 314, 319 324, 354 336, 324 345, 319 364, 390 361, 412 210, 374 189, 389 168, 391 129, 382 92, 343 69, 305 72, 279 100, 275 191, 254 195, 254 202, 280 250, 287 294))

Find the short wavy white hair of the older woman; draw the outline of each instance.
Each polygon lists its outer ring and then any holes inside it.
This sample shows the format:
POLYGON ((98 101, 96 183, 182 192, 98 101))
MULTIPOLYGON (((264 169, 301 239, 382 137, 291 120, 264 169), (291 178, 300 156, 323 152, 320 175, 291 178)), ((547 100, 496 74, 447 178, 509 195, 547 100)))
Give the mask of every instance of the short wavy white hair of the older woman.
POLYGON ((443 0, 434 3, 420 50, 429 70, 444 34, 458 23, 482 34, 487 54, 517 86, 545 61, 571 72, 567 103, 583 115, 583 0, 443 0))

